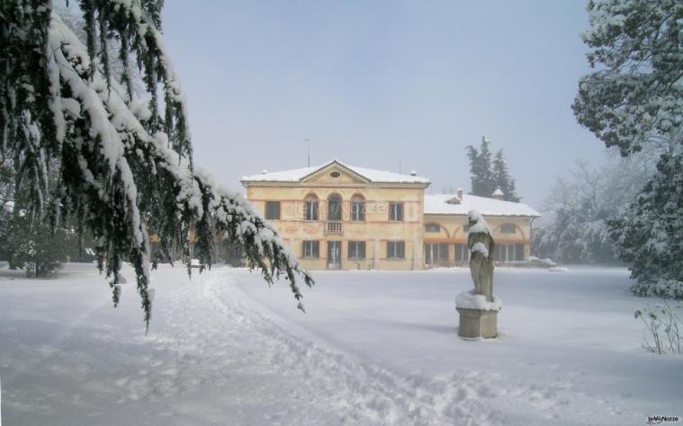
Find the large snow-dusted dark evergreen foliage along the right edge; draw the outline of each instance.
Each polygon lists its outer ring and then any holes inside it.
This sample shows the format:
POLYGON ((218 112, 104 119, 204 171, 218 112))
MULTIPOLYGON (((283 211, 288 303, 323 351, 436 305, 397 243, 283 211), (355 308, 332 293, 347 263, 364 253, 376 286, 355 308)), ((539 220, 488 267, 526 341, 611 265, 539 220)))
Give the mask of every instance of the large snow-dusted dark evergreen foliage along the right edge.
POLYGON ((598 69, 580 78, 577 120, 625 156, 665 146, 651 182, 610 222, 617 253, 632 263, 637 294, 682 297, 683 3, 591 1, 588 10, 583 40, 598 69))

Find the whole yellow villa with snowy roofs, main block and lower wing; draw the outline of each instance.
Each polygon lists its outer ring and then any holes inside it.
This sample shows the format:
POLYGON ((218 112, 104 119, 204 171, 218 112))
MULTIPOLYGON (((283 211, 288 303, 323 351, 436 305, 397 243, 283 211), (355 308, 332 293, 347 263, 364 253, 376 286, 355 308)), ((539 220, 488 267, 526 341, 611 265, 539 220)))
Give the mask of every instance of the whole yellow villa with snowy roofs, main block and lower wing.
POLYGON ((427 195, 417 173, 381 172, 328 163, 244 176, 247 199, 272 221, 310 270, 413 270, 469 260, 467 212, 493 228, 497 262, 524 261, 531 252, 526 204, 492 197, 427 195))

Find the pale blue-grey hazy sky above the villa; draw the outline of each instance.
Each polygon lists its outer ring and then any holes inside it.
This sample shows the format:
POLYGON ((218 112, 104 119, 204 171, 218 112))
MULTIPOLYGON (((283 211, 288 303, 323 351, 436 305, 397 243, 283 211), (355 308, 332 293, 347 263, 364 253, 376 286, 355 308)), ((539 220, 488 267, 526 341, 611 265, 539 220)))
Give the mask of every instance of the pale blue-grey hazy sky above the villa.
POLYGON ((589 71, 583 1, 166 0, 194 160, 245 174, 347 164, 470 191, 465 146, 503 148, 538 209, 576 158, 604 145, 571 112, 589 71))

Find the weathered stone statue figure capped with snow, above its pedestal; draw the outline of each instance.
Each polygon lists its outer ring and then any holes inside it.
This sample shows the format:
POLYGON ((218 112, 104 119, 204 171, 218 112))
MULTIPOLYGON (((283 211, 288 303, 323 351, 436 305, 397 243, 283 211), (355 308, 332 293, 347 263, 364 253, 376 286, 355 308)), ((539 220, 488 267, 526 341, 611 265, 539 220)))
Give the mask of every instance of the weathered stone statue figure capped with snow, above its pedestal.
POLYGON ((493 301, 493 233, 486 219, 477 210, 467 213, 470 221, 467 247, 472 252, 470 257, 470 271, 474 280, 474 294, 486 297, 487 302, 493 301))

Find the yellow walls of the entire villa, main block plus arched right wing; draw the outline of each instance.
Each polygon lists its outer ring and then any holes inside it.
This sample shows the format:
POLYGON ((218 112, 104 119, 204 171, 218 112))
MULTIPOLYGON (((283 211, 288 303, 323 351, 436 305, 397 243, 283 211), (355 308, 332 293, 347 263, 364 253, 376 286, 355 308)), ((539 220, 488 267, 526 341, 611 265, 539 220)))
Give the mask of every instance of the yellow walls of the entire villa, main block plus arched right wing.
MULTIPOLYGON (((302 179, 301 182, 244 182, 247 199, 265 213, 265 201, 280 201, 280 220, 271 220, 283 239, 290 244, 304 268, 328 269, 328 242, 341 242, 340 258, 343 270, 413 270, 425 268, 425 244, 448 244, 448 264, 455 260, 454 244, 467 244, 465 215, 424 215, 424 183, 373 183, 337 164, 302 179), (338 172, 337 178, 330 173, 338 172), (326 234, 328 197, 338 194, 342 199, 342 233, 326 234), (308 196, 319 200, 318 220, 305 220, 308 196), (360 195, 365 201, 365 220, 351 220, 352 198, 360 195), (403 220, 390 221, 390 201, 403 203, 403 220), (436 223, 437 233, 426 232, 425 225, 436 223), (303 241, 319 241, 319 258, 302 256, 303 241), (348 258, 350 241, 365 242, 365 259, 348 258), (388 259, 387 243, 403 241, 404 259, 388 259)), ((531 252, 530 217, 486 216, 493 228, 496 244, 523 244, 524 258, 531 252), (500 226, 515 225, 514 234, 502 234, 500 226)))

